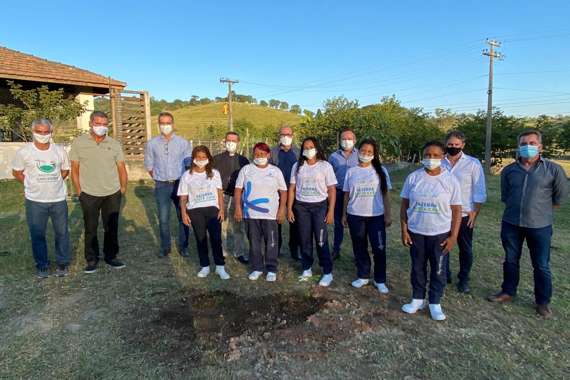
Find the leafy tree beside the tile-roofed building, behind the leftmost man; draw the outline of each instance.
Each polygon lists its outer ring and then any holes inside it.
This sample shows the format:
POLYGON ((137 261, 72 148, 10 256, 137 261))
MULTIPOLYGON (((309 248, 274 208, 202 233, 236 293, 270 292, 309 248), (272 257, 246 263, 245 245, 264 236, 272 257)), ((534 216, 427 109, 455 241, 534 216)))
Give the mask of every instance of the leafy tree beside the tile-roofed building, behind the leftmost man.
POLYGON ((30 126, 34 119, 51 120, 56 127, 55 133, 58 133, 58 127, 82 115, 87 109, 87 101, 79 103, 63 88, 50 90, 44 85, 23 90, 21 84, 11 80, 7 82, 10 93, 19 104, 0 104, 0 119, 3 119, 3 124, 13 137, 18 136, 24 141, 31 140, 30 126))

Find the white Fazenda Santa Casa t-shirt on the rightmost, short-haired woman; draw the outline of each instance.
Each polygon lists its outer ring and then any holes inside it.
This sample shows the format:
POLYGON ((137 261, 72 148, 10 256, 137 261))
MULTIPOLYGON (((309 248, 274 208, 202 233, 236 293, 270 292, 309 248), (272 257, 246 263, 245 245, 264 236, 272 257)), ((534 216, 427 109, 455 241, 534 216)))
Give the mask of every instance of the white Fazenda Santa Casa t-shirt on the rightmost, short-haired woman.
POLYGON ((451 230, 451 206, 461 206, 461 187, 455 175, 441 168, 438 175, 429 175, 424 168, 408 175, 402 198, 410 200, 408 230, 427 236, 451 230))

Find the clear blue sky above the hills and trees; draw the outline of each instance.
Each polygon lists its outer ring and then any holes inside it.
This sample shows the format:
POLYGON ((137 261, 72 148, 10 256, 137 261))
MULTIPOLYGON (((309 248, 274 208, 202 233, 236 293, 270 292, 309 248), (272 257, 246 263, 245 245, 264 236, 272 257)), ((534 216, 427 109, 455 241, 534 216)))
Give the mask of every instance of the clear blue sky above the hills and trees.
POLYGON ((502 42, 494 105, 570 114, 568 1, 9 1, 0 45, 126 81, 155 99, 233 89, 316 111, 344 95, 486 109, 486 38, 502 42))

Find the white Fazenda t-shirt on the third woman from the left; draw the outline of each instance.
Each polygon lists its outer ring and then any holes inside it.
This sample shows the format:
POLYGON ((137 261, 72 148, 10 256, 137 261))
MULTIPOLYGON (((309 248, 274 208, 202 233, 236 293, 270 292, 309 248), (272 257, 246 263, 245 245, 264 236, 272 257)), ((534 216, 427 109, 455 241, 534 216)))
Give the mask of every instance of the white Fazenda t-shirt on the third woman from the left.
POLYGON ((291 183, 295 183, 295 199, 299 202, 316 203, 328 198, 327 186, 336 185, 335 170, 328 161, 317 161, 314 165, 304 162, 298 174, 295 162, 291 169, 291 183))

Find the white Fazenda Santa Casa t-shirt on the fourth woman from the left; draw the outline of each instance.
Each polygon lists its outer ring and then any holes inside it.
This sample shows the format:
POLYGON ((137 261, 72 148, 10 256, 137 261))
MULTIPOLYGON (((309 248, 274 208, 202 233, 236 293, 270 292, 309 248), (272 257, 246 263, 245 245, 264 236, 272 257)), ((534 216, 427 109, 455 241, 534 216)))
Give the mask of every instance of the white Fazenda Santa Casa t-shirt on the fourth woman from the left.
MULTIPOLYGON (((386 174, 388 189, 392 189, 388 170, 382 166, 386 174)), ((353 166, 344 177, 343 191, 348 192, 347 213, 359 216, 378 216, 384 214, 384 199, 380 190, 380 178, 374 166, 353 166)), ((339 195, 337 195, 339 197, 339 195)))

